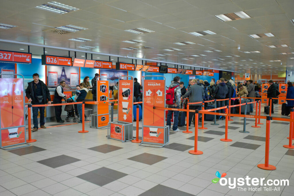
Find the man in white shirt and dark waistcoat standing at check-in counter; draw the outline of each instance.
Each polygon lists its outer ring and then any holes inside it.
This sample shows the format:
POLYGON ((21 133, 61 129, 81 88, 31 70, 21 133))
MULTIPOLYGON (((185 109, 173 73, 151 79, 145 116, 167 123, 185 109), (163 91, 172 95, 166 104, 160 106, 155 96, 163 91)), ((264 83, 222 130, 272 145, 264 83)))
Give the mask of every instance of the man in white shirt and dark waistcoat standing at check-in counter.
MULTIPOLYGON (((54 92, 54 99, 53 103, 62 103, 62 99, 66 100, 66 95, 63 94, 63 88, 65 87, 65 81, 61 81, 59 83, 59 86, 56 87, 54 92)), ((61 119, 61 112, 62 112, 62 105, 56 105, 54 106, 55 110, 55 117, 57 123, 64 123, 64 120, 61 119)))

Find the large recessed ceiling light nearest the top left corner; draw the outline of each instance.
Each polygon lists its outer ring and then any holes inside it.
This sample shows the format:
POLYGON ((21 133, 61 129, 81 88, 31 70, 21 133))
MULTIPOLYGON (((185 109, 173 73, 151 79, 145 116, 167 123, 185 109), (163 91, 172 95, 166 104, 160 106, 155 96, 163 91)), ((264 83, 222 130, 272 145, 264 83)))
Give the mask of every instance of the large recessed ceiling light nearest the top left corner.
POLYGON ((59 13, 59 14, 66 14, 71 11, 79 10, 78 8, 68 6, 65 4, 61 4, 56 1, 50 1, 50 2, 42 4, 40 6, 36 6, 36 8, 44 9, 46 11, 52 11, 52 12, 59 13))

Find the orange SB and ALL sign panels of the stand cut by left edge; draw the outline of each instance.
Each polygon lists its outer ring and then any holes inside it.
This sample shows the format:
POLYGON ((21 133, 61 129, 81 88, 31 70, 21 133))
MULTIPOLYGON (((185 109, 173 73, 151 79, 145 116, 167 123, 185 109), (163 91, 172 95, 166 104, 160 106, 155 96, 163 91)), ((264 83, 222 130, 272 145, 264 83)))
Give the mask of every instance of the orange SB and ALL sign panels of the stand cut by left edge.
MULTIPOLYGON (((22 78, 0 78, 1 128, 24 125, 22 78)), ((24 127, 1 130, 1 146, 25 142, 24 127)))

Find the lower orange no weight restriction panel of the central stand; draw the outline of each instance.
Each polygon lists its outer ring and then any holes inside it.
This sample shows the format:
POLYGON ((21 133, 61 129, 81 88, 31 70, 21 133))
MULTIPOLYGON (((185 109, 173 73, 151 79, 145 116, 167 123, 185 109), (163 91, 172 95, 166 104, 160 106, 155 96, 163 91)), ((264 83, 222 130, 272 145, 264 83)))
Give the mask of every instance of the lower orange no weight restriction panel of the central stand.
POLYGON ((164 143, 164 129, 154 127, 143 127, 143 142, 164 143))

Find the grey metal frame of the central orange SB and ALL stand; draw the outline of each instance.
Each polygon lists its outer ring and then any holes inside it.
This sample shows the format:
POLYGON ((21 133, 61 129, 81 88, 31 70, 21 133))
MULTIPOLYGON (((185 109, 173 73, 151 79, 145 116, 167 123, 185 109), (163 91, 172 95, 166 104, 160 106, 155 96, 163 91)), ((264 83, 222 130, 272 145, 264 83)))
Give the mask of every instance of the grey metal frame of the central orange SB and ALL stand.
MULTIPOLYGON (((166 103, 165 103, 165 100, 166 100, 166 78, 164 76, 145 76, 143 78, 143 93, 145 92, 144 90, 144 81, 146 78, 148 77, 163 77, 164 79, 164 107, 166 107, 166 103)), ((147 125, 144 125, 144 94, 143 94, 143 108, 142 108, 142 142, 139 144, 140 146, 148 146, 148 147, 156 147, 156 148, 162 148, 163 146, 165 146, 166 144, 169 143, 169 126, 165 125, 165 112, 163 114, 163 124, 164 126, 147 126, 147 125), (163 134, 164 134, 164 137, 163 137, 163 144, 158 144, 158 143, 152 143, 152 142, 144 142, 144 127, 148 127, 148 128, 162 128, 163 129, 163 134)), ((150 133, 150 132, 149 132, 150 133)))

